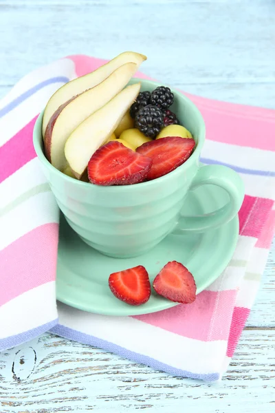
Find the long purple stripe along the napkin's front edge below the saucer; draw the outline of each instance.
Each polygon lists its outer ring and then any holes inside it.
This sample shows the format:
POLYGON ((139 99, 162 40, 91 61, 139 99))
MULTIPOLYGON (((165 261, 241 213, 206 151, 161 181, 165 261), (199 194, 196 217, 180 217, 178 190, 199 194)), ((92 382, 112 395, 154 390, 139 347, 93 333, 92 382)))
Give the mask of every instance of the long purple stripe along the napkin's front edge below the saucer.
POLYGON ((109 341, 98 339, 98 337, 87 335, 84 332, 79 332, 76 330, 72 330, 72 328, 61 326, 61 324, 58 324, 57 326, 52 328, 51 332, 61 337, 65 337, 66 339, 79 341, 80 343, 89 344, 91 346, 102 348, 109 352, 118 354, 121 357, 124 357, 125 359, 130 359, 135 361, 136 363, 145 364, 146 366, 150 366, 154 370, 162 370, 168 374, 172 374, 173 376, 189 377, 190 379, 199 379, 204 381, 219 380, 219 373, 195 374, 192 372, 186 372, 185 370, 168 366, 168 364, 164 364, 161 361, 152 359, 151 357, 144 356, 131 350, 127 350, 126 348, 117 346, 116 344, 110 343, 109 341))

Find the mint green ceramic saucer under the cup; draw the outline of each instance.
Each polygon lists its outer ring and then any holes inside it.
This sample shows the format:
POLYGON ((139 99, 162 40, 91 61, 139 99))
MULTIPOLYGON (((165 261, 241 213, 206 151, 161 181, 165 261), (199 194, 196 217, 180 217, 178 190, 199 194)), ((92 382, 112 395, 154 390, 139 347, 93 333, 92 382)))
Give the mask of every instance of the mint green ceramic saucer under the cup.
MULTIPOLYGON (((190 191, 182 215, 201 215, 223 207, 228 194, 212 185, 190 191)), ((227 266, 234 253, 239 234, 236 216, 219 229, 205 233, 168 235, 148 253, 135 258, 110 258, 87 246, 69 227, 61 214, 58 244, 56 295, 59 301, 80 310, 104 315, 140 315, 165 310, 177 304, 152 291, 142 306, 129 306, 109 290, 111 273, 143 265, 151 281, 168 261, 179 261, 194 275, 200 293, 227 266)))

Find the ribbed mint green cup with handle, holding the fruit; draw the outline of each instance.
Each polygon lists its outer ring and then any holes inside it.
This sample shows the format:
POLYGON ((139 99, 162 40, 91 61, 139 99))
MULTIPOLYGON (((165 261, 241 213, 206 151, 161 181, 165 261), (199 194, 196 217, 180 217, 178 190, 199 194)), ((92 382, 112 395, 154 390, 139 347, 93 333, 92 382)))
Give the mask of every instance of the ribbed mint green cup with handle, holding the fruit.
MULTIPOLYGON (((142 90, 152 91, 159 83, 141 81, 142 90)), ((195 151, 175 171, 140 184, 100 187, 61 173, 47 161, 43 152, 41 125, 43 113, 34 126, 34 149, 41 161, 56 202, 68 224, 84 242, 104 255, 135 257, 146 253, 170 233, 203 232, 234 218, 243 202, 244 187, 239 175, 228 167, 201 167, 199 156, 206 128, 199 109, 183 94, 173 90, 171 110, 181 125, 192 133, 195 151), (205 184, 223 188, 228 204, 203 216, 181 216, 188 191, 205 184)), ((218 116, 218 115, 217 115, 218 116)))

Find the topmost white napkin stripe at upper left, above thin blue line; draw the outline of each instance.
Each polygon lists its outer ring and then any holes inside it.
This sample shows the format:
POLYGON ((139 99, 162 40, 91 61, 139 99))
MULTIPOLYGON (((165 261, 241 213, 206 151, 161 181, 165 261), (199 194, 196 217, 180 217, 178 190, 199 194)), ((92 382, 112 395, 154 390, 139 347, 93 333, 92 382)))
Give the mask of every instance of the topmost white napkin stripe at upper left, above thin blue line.
POLYGON ((58 59, 48 65, 32 70, 21 78, 10 92, 0 100, 0 109, 8 105, 14 98, 20 96, 32 87, 43 81, 47 81, 50 77, 65 76, 72 80, 76 78, 74 62, 71 59, 58 59))

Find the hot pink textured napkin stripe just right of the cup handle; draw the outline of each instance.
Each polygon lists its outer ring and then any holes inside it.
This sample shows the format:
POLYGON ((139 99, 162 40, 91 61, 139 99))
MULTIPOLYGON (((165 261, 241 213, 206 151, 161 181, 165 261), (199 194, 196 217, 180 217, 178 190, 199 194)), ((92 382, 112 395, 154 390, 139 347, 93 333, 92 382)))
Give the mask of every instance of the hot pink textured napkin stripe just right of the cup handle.
POLYGON ((274 201, 245 195, 239 211, 240 234, 258 238, 270 216, 274 201))

